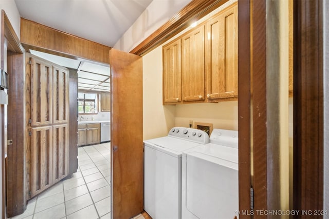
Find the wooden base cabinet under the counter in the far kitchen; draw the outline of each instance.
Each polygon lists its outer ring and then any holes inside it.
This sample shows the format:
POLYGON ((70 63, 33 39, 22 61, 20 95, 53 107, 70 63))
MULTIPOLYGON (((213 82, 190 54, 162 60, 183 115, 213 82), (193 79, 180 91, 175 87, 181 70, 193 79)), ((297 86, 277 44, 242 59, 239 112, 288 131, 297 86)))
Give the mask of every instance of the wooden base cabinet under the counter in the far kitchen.
POLYGON ((89 123, 78 125, 78 146, 99 144, 101 125, 100 123, 89 123))

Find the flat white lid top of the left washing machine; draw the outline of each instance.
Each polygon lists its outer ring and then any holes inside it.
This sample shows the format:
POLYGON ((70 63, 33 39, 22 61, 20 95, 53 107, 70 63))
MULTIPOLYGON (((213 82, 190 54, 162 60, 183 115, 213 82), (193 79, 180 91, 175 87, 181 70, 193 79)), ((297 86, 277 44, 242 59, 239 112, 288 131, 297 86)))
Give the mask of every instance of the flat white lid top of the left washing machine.
POLYGON ((180 140, 179 138, 165 136, 154 138, 151 140, 144 141, 145 146, 149 146, 155 150, 162 151, 172 156, 181 157, 181 153, 185 150, 194 148, 199 143, 190 142, 186 140, 180 140))

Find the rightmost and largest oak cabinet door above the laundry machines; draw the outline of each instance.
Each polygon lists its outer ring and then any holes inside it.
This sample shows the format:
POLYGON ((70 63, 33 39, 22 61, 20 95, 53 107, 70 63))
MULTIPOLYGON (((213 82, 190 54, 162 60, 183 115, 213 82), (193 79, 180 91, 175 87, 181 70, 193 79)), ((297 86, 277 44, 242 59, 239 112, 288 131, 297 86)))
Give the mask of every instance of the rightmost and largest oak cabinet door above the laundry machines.
POLYGON ((237 5, 207 22, 207 99, 237 96, 237 5))

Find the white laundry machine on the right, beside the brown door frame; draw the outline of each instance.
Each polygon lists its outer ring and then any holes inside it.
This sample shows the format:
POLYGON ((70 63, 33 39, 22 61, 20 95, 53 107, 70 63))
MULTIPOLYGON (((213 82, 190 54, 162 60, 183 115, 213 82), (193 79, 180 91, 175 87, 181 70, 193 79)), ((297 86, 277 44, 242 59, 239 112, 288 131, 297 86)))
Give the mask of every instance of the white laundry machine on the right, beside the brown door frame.
POLYGON ((182 154, 182 219, 233 219, 239 210, 237 131, 213 129, 210 143, 182 154))

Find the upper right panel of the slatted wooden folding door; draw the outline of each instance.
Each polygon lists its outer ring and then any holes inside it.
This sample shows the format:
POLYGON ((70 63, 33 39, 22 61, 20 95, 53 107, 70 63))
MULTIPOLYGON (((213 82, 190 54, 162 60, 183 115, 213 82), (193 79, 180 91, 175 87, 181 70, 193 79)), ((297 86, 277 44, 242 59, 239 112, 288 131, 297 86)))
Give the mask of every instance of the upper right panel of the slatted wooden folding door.
POLYGON ((69 74, 66 68, 52 66, 52 121, 53 124, 68 122, 69 74))

